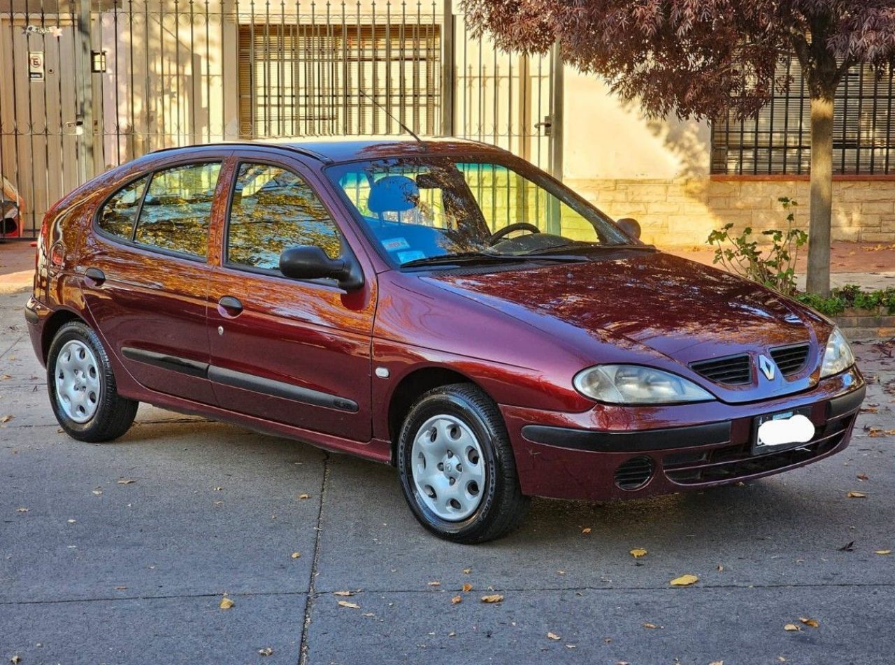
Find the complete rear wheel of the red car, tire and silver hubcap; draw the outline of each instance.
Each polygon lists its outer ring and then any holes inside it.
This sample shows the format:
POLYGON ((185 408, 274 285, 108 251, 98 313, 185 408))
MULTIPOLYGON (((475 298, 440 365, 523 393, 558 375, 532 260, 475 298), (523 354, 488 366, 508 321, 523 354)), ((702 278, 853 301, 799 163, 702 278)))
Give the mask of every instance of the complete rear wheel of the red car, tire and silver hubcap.
POLYGON ((47 358, 47 390, 56 420, 79 441, 117 439, 130 429, 140 402, 118 394, 106 349, 87 324, 64 324, 47 358))

